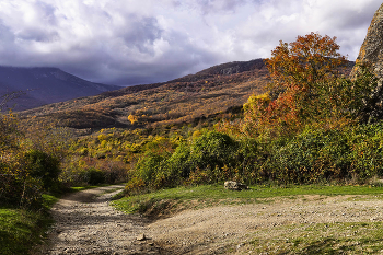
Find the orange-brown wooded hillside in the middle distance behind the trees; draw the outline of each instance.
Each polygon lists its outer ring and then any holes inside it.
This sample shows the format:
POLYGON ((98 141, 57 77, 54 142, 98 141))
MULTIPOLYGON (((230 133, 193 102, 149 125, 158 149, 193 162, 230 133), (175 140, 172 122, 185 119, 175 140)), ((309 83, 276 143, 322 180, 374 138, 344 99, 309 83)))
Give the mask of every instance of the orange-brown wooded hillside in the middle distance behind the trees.
MULTIPOLYGON (((346 74, 352 68, 347 66, 346 74)), ((55 121, 76 129, 198 125, 241 114, 252 94, 264 92, 263 59, 218 65, 163 83, 127 86, 21 112, 25 125, 55 121)))

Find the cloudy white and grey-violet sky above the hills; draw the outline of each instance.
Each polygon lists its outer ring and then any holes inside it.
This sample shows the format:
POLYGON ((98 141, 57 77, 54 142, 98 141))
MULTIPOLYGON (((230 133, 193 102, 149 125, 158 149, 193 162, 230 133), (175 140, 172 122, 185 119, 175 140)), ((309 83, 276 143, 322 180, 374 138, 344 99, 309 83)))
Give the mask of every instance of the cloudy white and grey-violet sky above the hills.
POLYGON ((311 32, 358 57, 382 0, 0 0, 0 65, 116 85, 270 57, 311 32))

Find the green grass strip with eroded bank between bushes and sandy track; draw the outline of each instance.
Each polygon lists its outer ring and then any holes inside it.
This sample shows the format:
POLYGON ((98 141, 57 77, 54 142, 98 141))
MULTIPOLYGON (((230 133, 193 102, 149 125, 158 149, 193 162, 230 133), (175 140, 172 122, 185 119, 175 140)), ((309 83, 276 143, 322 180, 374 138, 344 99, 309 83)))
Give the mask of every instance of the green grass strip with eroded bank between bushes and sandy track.
POLYGON ((381 185, 337 186, 337 185, 291 185, 251 186, 249 189, 232 192, 223 185, 201 185, 176 187, 154 193, 123 197, 113 205, 127 213, 144 213, 152 217, 172 215, 183 209, 199 209, 217 205, 240 205, 251 202, 271 202, 278 197, 295 199, 298 196, 321 195, 374 195, 383 197, 381 185))

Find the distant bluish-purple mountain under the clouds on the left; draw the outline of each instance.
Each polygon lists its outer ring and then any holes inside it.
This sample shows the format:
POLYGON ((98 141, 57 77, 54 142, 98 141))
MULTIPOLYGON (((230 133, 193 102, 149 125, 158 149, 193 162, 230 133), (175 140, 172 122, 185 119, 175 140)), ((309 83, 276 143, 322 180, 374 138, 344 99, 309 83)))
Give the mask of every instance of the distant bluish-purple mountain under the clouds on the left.
POLYGON ((0 95, 21 92, 8 105, 15 111, 118 89, 120 86, 85 81, 58 68, 0 67, 0 95))

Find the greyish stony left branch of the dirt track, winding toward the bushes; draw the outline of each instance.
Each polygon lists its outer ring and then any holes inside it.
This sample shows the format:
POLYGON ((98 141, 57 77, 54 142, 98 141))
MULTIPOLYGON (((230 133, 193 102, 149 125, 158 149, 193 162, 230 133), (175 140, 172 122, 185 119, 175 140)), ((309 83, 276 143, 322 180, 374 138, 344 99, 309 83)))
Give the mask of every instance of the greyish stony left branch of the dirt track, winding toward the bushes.
POLYGON ((108 205, 123 188, 100 187, 60 199, 51 210, 56 223, 47 244, 36 254, 161 254, 151 240, 137 241, 147 224, 144 218, 108 205))

